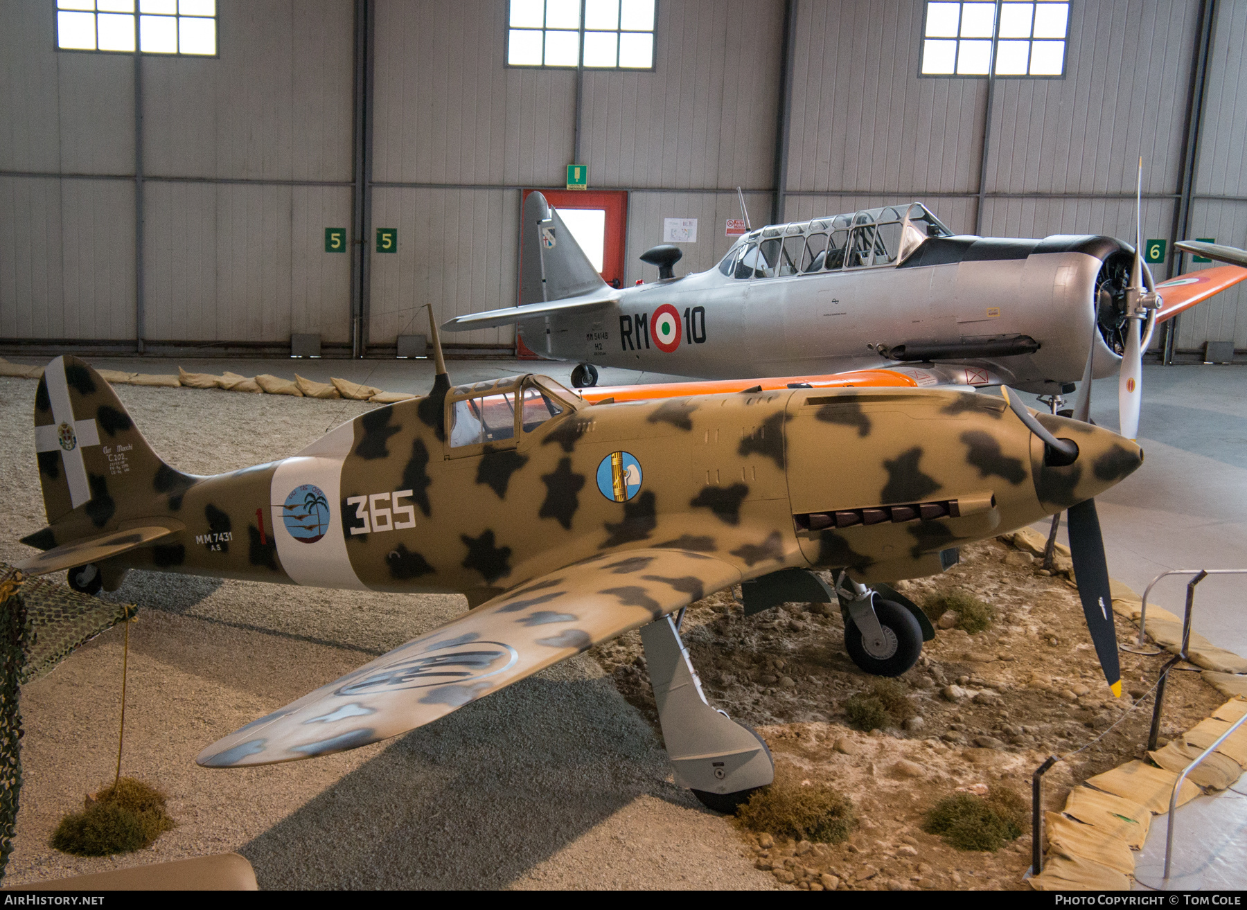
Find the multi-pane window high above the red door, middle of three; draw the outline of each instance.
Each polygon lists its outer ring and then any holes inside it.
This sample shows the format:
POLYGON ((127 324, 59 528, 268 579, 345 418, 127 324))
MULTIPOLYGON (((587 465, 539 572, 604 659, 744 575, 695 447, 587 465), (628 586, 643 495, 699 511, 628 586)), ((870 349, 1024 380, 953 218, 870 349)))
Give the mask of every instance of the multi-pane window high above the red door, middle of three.
POLYGON ((656 0, 511 0, 510 66, 652 70, 656 0), (584 27, 581 15, 584 14, 584 27))

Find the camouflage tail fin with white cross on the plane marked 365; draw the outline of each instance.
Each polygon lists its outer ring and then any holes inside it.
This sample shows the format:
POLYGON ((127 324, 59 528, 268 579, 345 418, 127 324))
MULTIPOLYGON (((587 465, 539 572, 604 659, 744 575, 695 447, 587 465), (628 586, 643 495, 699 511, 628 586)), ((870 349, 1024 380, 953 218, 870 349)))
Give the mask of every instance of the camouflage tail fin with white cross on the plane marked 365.
MULTIPOLYGON (((112 388, 76 357, 56 358, 39 380, 35 450, 47 524, 74 525, 72 536, 167 506, 176 511, 197 480, 161 461, 112 388)), ((44 537, 51 542, 47 529, 25 542, 46 550, 44 537)))

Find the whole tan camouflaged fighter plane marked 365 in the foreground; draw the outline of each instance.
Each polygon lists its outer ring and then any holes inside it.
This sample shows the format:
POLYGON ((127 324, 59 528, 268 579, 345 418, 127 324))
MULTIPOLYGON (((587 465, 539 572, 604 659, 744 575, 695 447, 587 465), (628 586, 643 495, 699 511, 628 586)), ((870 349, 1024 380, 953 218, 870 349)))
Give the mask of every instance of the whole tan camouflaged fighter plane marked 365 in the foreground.
POLYGON ((771 782, 769 753, 706 703, 672 613, 737 583, 747 612, 838 600, 852 658, 897 676, 934 632, 884 582, 1061 509, 1120 687, 1090 497, 1142 451, 1016 398, 829 388, 587 404, 539 375, 451 386, 438 349, 428 396, 203 477, 165 464, 108 384, 60 357, 39 383, 35 445, 49 526, 24 539, 44 551, 26 572, 67 568, 87 592, 142 568, 466 595, 459 618, 209 745, 207 767, 375 743, 640 627, 676 779, 728 810, 771 782), (812 570, 838 571, 835 590, 812 570))

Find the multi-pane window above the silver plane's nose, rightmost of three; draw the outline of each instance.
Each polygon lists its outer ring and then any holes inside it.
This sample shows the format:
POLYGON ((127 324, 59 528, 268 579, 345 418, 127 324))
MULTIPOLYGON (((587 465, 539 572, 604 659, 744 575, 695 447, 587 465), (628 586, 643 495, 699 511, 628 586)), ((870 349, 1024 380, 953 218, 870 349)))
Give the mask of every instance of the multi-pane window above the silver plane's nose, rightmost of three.
POLYGON ((924 76, 1064 76, 1070 5, 1052 0, 927 4, 924 76), (993 65, 993 42, 995 64, 993 65))

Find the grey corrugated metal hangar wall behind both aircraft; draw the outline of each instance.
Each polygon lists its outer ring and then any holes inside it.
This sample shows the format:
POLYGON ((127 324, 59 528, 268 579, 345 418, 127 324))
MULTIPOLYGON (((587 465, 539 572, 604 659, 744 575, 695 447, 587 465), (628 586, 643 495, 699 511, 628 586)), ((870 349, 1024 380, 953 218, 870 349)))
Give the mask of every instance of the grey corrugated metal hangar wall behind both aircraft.
MULTIPOLYGON (((595 188, 630 191, 628 282, 656 277, 636 257, 663 217, 698 218, 681 269, 713 264, 737 186, 754 223, 773 206, 798 219, 920 198, 958 231, 1130 237, 1142 153, 1145 236, 1171 237, 1207 7, 1188 233, 1243 246, 1247 0, 1076 2, 1065 79, 990 86, 917 75, 919 0, 660 0, 655 72, 584 74, 580 160, 595 188)), ((504 66, 504 0, 454 15, 412 0, 218 0, 219 57, 145 56, 137 86, 130 55, 55 51, 54 15, 50 1, 0 0, 0 344, 132 348, 141 333, 279 349, 319 332, 344 354, 354 284, 384 353, 424 330, 425 303, 445 319, 514 302, 520 191, 561 184, 577 108, 574 71, 504 66), (360 239, 395 227, 399 248, 365 254, 355 283, 323 232, 352 229, 360 186, 360 239)), ((1247 348, 1245 302, 1191 310, 1177 348, 1247 348)))

